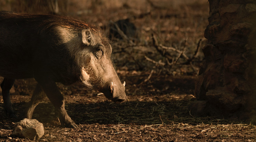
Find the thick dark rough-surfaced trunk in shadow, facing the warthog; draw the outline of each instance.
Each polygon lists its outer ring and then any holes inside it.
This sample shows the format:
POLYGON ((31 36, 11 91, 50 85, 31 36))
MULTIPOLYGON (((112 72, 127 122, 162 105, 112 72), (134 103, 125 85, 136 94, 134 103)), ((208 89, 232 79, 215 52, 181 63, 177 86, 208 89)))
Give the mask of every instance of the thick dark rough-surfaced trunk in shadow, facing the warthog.
POLYGON ((209 0, 205 62, 192 103, 194 115, 254 119, 256 109, 256 1, 209 0))

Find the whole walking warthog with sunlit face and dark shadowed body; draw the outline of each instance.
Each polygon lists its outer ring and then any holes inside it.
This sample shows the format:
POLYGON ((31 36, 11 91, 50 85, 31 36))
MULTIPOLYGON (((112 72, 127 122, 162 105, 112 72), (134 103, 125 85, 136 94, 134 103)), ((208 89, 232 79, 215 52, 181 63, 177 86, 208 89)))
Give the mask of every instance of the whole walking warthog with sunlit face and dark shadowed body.
POLYGON ((0 12, 0 75, 4 107, 16 117, 9 90, 15 79, 34 78, 38 85, 25 117, 46 96, 53 103, 62 126, 77 127, 67 115, 63 95, 55 82, 80 81, 86 88, 104 93, 116 103, 126 100, 110 60, 111 46, 96 26, 54 15, 0 12))

